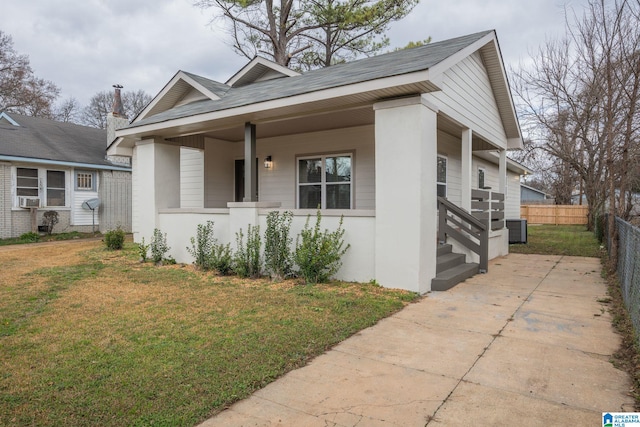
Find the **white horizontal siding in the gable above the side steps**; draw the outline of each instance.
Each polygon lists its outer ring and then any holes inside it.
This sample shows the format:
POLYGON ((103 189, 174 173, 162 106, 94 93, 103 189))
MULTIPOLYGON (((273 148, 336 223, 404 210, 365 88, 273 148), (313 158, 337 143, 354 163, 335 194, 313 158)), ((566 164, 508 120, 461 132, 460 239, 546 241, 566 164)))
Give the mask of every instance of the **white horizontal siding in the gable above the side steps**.
POLYGON ((493 96, 487 70, 475 52, 447 70, 442 91, 429 94, 442 113, 491 143, 507 148, 498 105, 493 96))

